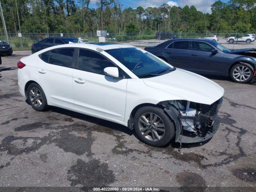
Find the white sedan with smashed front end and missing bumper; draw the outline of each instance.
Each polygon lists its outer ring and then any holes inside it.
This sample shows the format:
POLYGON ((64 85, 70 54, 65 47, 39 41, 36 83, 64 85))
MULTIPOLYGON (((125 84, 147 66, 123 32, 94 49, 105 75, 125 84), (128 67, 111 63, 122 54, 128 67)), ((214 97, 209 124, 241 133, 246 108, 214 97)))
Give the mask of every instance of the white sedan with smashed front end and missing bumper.
POLYGON ((75 43, 18 62, 18 86, 32 108, 47 106, 116 122, 152 146, 213 136, 224 89, 126 44, 75 43))

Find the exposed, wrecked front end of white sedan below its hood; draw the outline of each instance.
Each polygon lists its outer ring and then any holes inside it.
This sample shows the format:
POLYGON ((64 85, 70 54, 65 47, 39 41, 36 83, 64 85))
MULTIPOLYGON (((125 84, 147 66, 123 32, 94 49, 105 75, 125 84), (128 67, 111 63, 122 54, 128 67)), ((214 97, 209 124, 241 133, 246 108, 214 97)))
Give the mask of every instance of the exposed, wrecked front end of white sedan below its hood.
POLYGON ((175 142, 196 143, 206 141, 220 126, 218 109, 222 98, 211 105, 186 100, 163 101, 159 104, 173 120, 176 127, 175 142))

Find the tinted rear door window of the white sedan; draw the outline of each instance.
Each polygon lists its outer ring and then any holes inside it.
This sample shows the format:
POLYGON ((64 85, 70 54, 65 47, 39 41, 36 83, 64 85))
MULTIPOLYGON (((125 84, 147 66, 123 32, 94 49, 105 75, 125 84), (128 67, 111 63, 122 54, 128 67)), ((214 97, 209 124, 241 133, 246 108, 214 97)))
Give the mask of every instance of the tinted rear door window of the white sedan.
POLYGON ((41 59, 49 64, 71 67, 73 60, 74 48, 61 48, 45 52, 41 59))

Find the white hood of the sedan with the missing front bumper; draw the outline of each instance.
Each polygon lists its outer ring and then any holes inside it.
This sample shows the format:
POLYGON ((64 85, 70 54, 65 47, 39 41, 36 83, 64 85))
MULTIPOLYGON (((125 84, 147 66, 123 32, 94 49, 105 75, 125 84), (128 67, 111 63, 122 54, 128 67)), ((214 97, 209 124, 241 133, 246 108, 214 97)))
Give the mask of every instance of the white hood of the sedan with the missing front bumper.
POLYGON ((147 86, 196 103, 210 105, 224 94, 224 89, 215 82, 182 69, 143 80, 147 86))

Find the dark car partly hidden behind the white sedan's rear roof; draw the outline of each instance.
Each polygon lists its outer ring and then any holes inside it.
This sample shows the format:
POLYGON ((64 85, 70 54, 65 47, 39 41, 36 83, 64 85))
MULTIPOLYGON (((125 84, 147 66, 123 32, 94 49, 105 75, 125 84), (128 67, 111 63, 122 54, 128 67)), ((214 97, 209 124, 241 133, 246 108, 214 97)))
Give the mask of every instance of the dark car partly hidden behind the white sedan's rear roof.
POLYGON ((78 43, 79 40, 70 37, 49 37, 31 45, 32 54, 42 49, 61 44, 78 43))

